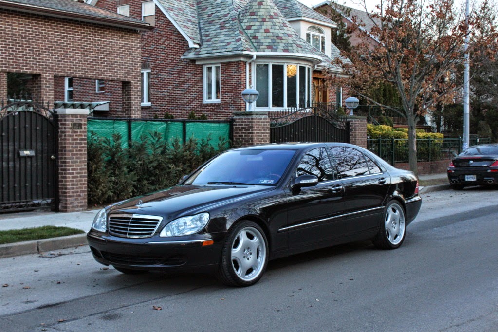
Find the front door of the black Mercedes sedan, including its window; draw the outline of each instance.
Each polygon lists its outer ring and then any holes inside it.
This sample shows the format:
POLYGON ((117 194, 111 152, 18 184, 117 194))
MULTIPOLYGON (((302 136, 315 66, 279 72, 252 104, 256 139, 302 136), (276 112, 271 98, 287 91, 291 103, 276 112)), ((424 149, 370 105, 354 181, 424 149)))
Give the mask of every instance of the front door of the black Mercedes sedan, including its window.
POLYGON ((296 168, 294 177, 316 175, 318 184, 293 193, 289 188, 288 234, 289 246, 299 247, 337 236, 337 216, 343 213, 343 186, 332 168, 325 147, 306 151, 296 168))

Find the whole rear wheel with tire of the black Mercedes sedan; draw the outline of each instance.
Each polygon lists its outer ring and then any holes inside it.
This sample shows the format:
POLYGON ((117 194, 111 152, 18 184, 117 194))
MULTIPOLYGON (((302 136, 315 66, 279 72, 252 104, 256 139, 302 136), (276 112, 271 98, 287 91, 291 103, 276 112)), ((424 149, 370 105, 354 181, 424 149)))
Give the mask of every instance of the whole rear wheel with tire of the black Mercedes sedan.
POLYGON ((406 235, 406 217, 401 203, 390 201, 384 208, 380 229, 373 238, 378 249, 396 249, 401 246, 406 235))

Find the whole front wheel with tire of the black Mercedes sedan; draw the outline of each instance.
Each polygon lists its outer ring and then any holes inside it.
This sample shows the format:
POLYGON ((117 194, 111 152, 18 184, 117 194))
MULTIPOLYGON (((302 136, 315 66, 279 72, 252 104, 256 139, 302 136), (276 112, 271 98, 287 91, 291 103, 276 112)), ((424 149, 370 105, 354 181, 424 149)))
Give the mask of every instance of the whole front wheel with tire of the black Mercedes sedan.
POLYGON ((225 239, 218 279, 228 286, 247 287, 261 279, 268 263, 268 241, 255 222, 232 226, 225 239))

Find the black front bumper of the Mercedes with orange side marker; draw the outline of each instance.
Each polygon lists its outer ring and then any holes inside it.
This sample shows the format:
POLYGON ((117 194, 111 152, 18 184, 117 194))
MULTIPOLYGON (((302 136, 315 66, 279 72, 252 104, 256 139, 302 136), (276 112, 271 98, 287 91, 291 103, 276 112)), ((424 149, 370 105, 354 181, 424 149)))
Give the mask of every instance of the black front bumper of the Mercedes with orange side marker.
POLYGON ((154 235, 122 238, 90 230, 88 244, 95 260, 104 265, 134 270, 205 271, 215 270, 221 258, 225 233, 195 234, 179 239, 154 235), (213 240, 211 245, 204 245, 213 240))

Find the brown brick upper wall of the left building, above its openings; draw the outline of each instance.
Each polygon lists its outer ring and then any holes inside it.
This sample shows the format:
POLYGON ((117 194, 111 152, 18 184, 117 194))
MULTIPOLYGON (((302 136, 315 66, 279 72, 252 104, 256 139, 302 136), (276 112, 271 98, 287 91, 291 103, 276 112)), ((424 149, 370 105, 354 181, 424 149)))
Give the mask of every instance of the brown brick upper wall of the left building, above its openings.
MULTIPOLYGON (((0 9, 0 21, 0 72, 34 74, 34 90, 45 101, 59 97, 56 76, 132 82, 133 102, 125 112, 139 115, 138 32, 5 9, 0 9)), ((3 76, 0 81, 1 99, 6 83, 3 76)))

